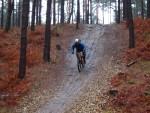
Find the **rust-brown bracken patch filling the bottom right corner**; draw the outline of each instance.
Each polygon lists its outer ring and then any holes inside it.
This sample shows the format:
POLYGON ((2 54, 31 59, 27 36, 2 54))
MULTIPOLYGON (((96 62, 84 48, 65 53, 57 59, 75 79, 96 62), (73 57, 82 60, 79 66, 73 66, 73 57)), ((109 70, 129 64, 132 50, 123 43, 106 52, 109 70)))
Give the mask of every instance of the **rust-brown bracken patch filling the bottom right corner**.
POLYGON ((150 75, 118 73, 111 84, 118 93, 110 98, 113 108, 122 113, 150 112, 150 75))

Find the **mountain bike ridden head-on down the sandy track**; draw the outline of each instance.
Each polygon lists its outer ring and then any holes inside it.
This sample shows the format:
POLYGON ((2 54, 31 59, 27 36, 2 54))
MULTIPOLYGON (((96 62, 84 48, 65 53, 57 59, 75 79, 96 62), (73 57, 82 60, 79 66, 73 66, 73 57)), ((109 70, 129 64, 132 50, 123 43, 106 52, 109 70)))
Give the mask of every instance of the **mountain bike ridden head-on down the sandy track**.
POLYGON ((84 54, 83 52, 77 52, 77 67, 78 71, 81 72, 82 68, 85 66, 84 54))

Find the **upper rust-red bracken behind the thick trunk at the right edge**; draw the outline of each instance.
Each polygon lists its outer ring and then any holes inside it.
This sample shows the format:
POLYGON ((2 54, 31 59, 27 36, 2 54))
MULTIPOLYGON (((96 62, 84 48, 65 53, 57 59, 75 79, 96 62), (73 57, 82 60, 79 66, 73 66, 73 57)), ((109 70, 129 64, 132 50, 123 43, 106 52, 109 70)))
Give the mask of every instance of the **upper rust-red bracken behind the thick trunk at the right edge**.
POLYGON ((134 25, 136 47, 126 50, 124 55, 126 63, 136 59, 150 60, 150 19, 136 18, 134 25))

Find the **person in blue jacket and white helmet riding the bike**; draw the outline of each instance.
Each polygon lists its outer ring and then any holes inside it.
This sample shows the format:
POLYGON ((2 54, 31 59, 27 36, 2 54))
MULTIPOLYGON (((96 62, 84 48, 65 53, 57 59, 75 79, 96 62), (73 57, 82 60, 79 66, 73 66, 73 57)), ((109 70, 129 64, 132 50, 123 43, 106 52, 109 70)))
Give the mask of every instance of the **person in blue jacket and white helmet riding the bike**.
MULTIPOLYGON (((86 51, 85 51, 85 46, 84 44, 81 43, 80 39, 75 39, 75 43, 72 45, 72 54, 74 54, 74 49, 76 49, 76 55, 77 53, 82 52, 83 53, 83 59, 84 63, 86 63, 86 51)), ((78 57, 78 56, 77 56, 78 57)))

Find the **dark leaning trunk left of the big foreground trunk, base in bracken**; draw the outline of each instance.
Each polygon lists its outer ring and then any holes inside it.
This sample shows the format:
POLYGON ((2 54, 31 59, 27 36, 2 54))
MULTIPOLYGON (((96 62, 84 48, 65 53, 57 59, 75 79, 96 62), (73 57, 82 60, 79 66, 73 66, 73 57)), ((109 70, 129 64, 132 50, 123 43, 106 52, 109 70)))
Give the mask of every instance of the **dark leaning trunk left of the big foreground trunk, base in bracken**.
POLYGON ((10 30, 11 26, 11 14, 12 14, 12 1, 8 0, 8 9, 7 9, 7 19, 6 19, 6 26, 5 26, 5 31, 8 32, 10 30))

